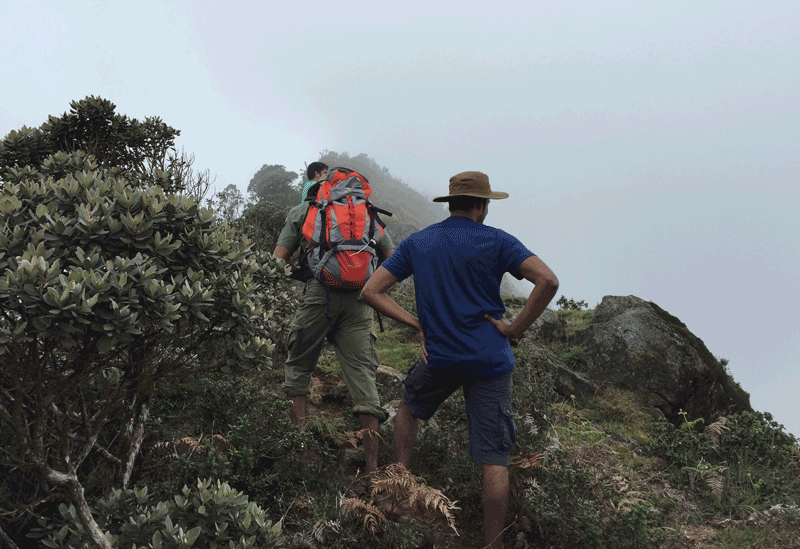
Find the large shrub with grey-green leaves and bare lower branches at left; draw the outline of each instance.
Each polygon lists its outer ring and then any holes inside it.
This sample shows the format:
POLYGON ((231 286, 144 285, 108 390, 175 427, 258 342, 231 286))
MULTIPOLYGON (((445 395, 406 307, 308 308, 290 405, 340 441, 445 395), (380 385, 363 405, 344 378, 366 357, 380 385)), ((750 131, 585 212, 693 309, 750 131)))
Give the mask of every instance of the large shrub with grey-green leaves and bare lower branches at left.
POLYGON ((164 378, 269 364, 293 299, 213 212, 119 174, 80 151, 0 173, 0 467, 74 502, 89 458, 126 484, 164 378))

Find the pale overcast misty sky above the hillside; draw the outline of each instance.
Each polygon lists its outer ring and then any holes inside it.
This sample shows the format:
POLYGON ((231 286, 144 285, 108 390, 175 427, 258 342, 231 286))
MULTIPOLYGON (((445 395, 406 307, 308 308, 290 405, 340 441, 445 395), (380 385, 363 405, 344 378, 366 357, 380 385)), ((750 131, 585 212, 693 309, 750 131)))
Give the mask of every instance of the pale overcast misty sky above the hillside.
POLYGON ((98 95, 217 188, 323 149, 446 194, 594 305, 636 295, 800 435, 800 2, 0 4, 0 134, 98 95))

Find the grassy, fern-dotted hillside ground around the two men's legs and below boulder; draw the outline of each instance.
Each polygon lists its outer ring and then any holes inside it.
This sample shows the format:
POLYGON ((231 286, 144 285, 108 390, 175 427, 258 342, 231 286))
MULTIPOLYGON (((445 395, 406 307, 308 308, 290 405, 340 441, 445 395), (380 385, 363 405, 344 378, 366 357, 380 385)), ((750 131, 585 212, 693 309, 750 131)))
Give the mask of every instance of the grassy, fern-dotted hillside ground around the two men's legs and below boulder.
MULTIPOLYGON (((393 292, 412 307, 411 284, 393 292)), ((523 301, 509 299, 512 314, 523 301)), ((594 314, 550 311, 548 316, 561 323, 563 338, 550 337, 548 329, 555 324, 545 323, 514 346, 517 440, 504 547, 800 547, 800 449, 794 437, 766 413, 684 416, 677 425, 654 417, 641 395, 604 383, 602 372, 585 368, 586 351, 569 345, 570 336, 590 325, 594 314), (570 394, 559 385, 556 370, 571 371, 594 389, 570 394), (556 391, 559 386, 562 394, 556 391)), ((402 372, 419 348, 408 328, 388 319, 383 323, 379 391, 391 409, 400 395, 402 372)), ((275 368, 267 371, 182 377, 162 387, 135 471, 138 495, 131 493, 126 501, 180 503, 183 496, 176 500, 175 495, 184 485, 210 477, 230 483, 266 517, 280 521, 274 530, 280 543, 274 547, 482 546, 481 473, 467 454, 460 393, 422 426, 413 478, 384 473, 384 486, 413 486, 414 493, 425 494, 418 500, 423 507, 410 520, 392 521, 375 506, 380 478, 363 474, 363 433, 350 413, 352 403, 333 349, 327 348, 319 362, 303 429, 287 420, 280 389, 284 358, 277 352, 275 368), (149 492, 142 492, 145 486, 149 492)), ((381 436, 379 463, 388 465, 391 422, 382 426, 381 436)), ((102 494, 90 497, 108 524, 128 524, 130 510, 100 502, 102 494)), ((66 532, 64 524, 75 528, 69 510, 63 509, 63 519, 46 522, 51 540, 66 532)), ((175 528, 185 519, 181 513, 173 511, 175 528)), ((203 517, 183 527, 196 524, 213 538, 214 519, 203 517)), ((249 522, 238 526, 251 528, 249 522)), ((12 532, 18 544, 24 533, 12 532)))

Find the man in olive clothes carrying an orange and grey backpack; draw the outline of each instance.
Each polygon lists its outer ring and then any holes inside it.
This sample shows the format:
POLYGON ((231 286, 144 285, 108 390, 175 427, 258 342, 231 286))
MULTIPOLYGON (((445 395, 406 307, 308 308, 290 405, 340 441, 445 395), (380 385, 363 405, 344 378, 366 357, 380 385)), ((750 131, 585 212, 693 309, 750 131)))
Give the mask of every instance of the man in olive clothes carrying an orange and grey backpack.
POLYGON ((372 189, 361 174, 313 162, 307 176, 311 184, 306 183, 303 202, 287 214, 274 252, 289 263, 293 278, 305 282, 289 333, 283 391, 291 401, 289 419, 302 424, 311 375, 323 343, 330 341, 353 399, 353 413, 362 429, 375 431, 363 437, 370 473, 378 467, 377 431, 388 413, 375 385, 379 359, 372 309, 359 293, 378 261, 394 250, 379 216, 388 212, 369 201, 372 189), (294 265, 290 258, 298 249, 300 261, 294 265))

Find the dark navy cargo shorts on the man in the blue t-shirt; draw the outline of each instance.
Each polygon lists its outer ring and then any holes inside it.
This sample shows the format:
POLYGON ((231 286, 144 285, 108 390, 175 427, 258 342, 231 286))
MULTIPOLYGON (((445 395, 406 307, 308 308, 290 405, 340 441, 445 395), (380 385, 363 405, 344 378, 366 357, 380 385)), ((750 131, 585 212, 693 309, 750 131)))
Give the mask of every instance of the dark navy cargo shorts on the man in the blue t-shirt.
POLYGON ((469 454, 478 463, 508 466, 517 440, 511 407, 513 372, 492 378, 463 378, 457 368, 430 368, 421 360, 403 381, 403 399, 415 418, 430 419, 459 387, 463 388, 469 428, 469 454))

